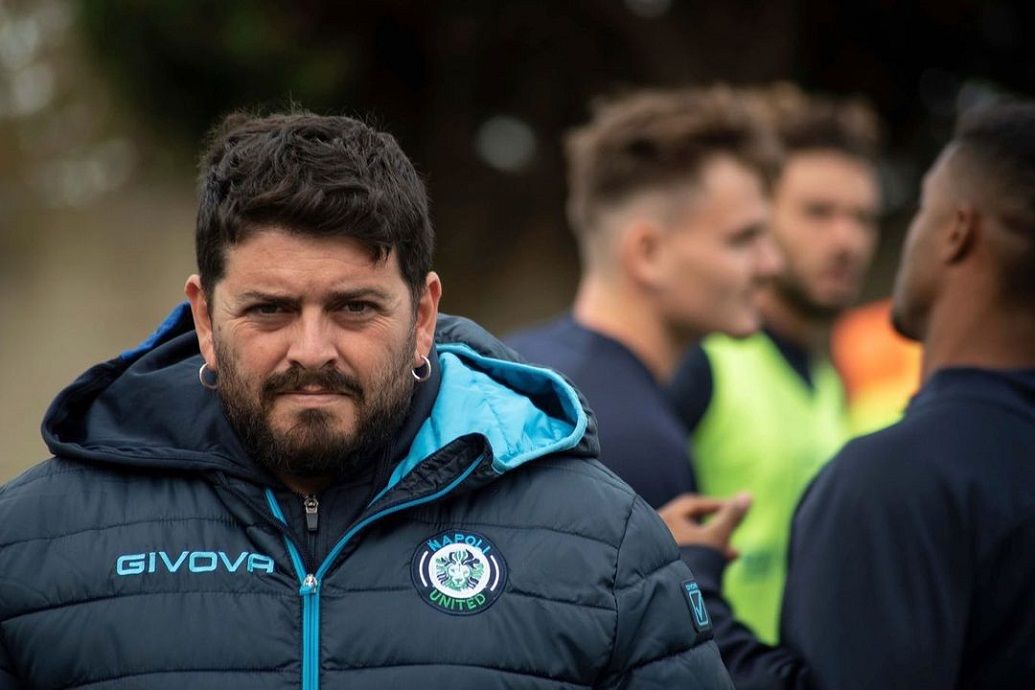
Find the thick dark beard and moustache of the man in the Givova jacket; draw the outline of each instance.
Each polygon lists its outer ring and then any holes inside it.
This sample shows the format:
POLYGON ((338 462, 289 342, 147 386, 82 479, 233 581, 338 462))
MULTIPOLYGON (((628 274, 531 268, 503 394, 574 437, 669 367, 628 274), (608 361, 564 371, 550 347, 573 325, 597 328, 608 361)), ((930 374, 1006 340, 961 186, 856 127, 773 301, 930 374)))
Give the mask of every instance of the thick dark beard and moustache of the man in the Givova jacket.
POLYGON ((391 381, 382 382, 380 390, 371 392, 338 371, 293 369, 264 382, 262 399, 257 402, 240 381, 233 356, 217 347, 216 359, 218 393, 227 419, 248 455, 276 476, 349 477, 383 462, 413 395, 413 385, 406 385, 411 376, 409 368, 393 371, 391 381), (322 410, 305 410, 288 432, 274 432, 267 418, 276 391, 297 389, 299 382, 352 395, 358 416, 355 432, 335 433, 330 428, 330 416, 322 410))

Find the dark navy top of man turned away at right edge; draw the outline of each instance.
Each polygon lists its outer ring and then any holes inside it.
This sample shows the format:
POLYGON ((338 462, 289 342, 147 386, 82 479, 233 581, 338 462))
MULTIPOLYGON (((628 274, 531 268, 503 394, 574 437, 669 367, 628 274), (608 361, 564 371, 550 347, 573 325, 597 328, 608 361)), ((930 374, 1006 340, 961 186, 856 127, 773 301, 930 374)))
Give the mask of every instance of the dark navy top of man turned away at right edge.
POLYGON ((732 621, 717 557, 684 551, 738 688, 1035 687, 1035 370, 939 371, 820 473, 782 647, 732 621))

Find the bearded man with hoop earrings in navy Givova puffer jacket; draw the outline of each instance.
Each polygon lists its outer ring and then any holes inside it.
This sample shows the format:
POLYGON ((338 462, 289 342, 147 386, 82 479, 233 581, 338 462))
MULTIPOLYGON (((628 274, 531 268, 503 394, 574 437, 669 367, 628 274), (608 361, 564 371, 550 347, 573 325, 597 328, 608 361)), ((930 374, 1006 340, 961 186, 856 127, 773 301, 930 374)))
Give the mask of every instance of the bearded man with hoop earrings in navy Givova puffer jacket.
POLYGON ((0 689, 731 687, 578 392, 439 318, 391 137, 231 116, 200 197, 189 308, 0 488, 0 689))

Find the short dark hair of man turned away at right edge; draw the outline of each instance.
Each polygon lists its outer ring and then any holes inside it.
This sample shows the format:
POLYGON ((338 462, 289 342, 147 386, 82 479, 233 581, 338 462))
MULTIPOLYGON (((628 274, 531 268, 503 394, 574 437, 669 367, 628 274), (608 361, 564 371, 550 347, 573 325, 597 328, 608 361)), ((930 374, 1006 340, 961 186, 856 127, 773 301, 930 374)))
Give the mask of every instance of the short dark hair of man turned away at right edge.
POLYGON ((981 189, 1003 228, 1023 240, 1000 251, 1003 297, 1035 298, 1035 103, 1005 101, 966 113, 956 125, 967 180, 981 189))

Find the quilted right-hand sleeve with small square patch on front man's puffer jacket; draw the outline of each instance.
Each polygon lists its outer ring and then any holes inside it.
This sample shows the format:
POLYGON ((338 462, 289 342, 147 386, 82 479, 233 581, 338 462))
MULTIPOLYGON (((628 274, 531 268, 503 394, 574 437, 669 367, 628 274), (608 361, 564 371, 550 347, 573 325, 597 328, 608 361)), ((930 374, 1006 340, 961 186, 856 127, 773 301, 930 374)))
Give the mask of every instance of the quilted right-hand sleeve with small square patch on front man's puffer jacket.
POLYGON ((660 518, 639 497, 617 559, 615 641, 596 687, 732 690, 700 600, 694 616, 687 594, 693 576, 660 518))

